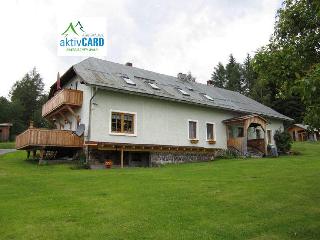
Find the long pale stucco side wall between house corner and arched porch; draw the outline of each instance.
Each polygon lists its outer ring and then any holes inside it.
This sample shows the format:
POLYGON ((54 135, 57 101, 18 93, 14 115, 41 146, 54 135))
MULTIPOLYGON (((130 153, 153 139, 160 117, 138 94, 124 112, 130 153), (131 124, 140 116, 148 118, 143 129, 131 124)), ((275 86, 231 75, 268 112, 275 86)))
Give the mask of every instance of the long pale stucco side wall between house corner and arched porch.
POLYGON ((226 148, 226 127, 222 121, 236 116, 218 109, 103 90, 93 103, 90 140, 100 142, 226 148), (111 111, 135 113, 136 135, 110 134, 111 111), (188 120, 198 121, 197 144, 190 143, 188 138, 188 120), (206 140, 206 122, 215 123, 216 144, 206 140))

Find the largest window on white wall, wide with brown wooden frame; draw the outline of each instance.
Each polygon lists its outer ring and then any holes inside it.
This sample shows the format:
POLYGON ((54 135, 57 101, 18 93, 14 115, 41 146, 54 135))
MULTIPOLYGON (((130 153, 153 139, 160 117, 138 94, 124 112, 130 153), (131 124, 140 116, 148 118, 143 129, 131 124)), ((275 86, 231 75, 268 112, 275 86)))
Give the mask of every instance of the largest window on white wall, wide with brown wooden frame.
POLYGON ((114 133, 134 133, 134 114, 112 112, 111 132, 114 133))

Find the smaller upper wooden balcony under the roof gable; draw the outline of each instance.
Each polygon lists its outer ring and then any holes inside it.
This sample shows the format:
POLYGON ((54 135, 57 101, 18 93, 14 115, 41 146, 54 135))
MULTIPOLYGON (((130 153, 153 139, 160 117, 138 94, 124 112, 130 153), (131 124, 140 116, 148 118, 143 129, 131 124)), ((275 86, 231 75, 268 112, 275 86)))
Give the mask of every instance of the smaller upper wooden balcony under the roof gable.
POLYGON ((83 92, 73 89, 62 89, 42 106, 42 117, 59 112, 65 106, 81 107, 83 92))

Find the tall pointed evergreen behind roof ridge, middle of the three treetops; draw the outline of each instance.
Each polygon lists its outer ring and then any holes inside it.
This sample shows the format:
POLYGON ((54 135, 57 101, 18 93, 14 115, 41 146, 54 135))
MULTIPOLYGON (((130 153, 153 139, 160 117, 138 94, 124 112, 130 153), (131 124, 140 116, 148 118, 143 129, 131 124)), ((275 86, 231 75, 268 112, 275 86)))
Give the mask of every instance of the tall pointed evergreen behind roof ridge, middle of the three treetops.
POLYGON ((226 78, 226 89, 242 92, 241 67, 232 54, 230 55, 229 62, 226 66, 226 78))

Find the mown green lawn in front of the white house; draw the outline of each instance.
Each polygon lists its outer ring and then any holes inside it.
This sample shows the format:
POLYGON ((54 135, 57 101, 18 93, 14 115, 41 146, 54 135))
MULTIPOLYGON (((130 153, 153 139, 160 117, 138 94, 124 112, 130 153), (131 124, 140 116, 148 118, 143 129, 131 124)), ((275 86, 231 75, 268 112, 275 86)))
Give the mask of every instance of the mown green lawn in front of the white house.
POLYGON ((1 239, 320 239, 320 144, 302 155, 71 170, 0 156, 1 239))

